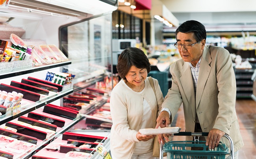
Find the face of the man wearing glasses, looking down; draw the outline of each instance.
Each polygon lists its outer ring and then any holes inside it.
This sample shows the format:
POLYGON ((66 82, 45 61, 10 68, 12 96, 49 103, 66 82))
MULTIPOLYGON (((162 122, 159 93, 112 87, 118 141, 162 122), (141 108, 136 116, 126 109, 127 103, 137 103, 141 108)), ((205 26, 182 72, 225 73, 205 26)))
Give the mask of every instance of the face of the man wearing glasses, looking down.
MULTIPOLYGON (((177 34, 177 44, 193 44, 197 41, 194 38, 194 33, 181 33, 177 34)), ((191 64, 195 67, 202 56, 205 45, 205 39, 196 43, 191 48, 185 48, 182 46, 178 51, 180 52, 180 56, 185 62, 191 62, 191 64)))

